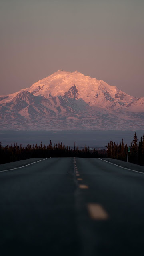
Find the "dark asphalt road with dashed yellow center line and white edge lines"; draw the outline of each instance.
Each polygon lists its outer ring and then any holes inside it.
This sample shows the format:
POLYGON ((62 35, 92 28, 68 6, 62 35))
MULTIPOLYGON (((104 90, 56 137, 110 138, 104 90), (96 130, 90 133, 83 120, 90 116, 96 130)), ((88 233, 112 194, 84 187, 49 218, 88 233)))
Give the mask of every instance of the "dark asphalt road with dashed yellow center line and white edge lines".
POLYGON ((143 256, 144 167, 113 163, 139 172, 96 158, 1 165, 0 255, 143 256))

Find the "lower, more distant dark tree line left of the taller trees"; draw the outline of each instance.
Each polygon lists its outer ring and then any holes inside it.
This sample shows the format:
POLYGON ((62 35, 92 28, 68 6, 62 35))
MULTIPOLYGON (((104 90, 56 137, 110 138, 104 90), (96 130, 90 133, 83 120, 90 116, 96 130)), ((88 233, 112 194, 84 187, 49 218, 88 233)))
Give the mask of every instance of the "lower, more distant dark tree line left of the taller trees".
POLYGON ((107 150, 96 150, 90 149, 89 147, 84 146, 83 149, 79 149, 78 146, 74 143, 74 148, 68 147, 68 145, 58 142, 52 146, 52 141, 48 146, 42 145, 42 142, 39 145, 26 145, 18 146, 18 144, 12 144, 9 146, 2 146, 0 142, 0 164, 14 162, 19 160, 24 160, 28 158, 35 157, 103 157, 107 156, 107 150))

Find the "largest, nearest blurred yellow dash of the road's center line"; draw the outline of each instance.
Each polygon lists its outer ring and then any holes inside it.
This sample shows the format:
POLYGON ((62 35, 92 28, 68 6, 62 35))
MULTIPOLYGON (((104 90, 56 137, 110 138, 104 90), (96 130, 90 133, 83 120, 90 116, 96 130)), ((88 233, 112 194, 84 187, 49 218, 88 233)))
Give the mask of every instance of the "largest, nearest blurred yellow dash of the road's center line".
POLYGON ((93 220, 107 220, 108 214, 100 204, 88 204, 88 212, 93 220))

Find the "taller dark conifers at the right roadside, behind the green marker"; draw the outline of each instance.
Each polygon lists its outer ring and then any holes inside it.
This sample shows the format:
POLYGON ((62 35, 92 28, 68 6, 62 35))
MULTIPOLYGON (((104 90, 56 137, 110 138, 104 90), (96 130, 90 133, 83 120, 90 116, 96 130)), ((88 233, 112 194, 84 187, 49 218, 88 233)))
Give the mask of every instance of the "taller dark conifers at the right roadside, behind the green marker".
POLYGON ((128 153, 128 146, 127 144, 124 144, 123 139, 122 143, 120 142, 120 144, 116 144, 110 140, 108 145, 106 145, 107 157, 127 161, 128 156, 128 162, 144 166, 144 135, 140 138, 140 142, 138 142, 135 132, 134 139, 129 147, 130 152, 128 153))

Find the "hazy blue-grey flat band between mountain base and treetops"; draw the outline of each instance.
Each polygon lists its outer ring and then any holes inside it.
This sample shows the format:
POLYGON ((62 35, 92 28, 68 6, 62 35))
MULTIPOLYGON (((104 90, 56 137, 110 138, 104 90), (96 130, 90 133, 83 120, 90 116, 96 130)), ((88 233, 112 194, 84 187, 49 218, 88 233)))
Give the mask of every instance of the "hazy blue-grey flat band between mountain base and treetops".
MULTIPOLYGON (((42 144, 48 145, 50 140, 68 144, 71 148, 78 145, 80 148, 84 145, 92 148, 104 148, 110 140, 116 143, 122 142, 128 145, 132 142, 135 131, 0 131, 0 141, 3 146, 18 143, 19 144, 42 144)), ((138 139, 143 136, 144 130, 136 131, 138 139)))

